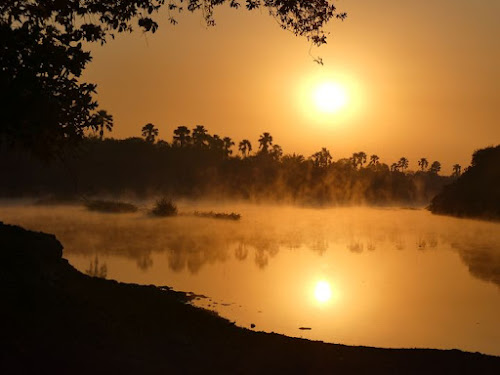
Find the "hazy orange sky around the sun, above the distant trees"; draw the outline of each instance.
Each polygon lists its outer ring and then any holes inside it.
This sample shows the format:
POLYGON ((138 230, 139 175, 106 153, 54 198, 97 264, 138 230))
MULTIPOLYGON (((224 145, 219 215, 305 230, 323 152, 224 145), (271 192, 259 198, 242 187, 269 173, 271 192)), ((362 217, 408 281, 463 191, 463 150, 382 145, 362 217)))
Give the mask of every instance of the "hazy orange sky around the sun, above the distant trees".
POLYGON ((443 171, 500 143, 500 1, 340 0, 326 46, 310 48, 265 10, 221 7, 217 26, 185 13, 156 34, 93 46, 85 79, 98 84, 113 136, 139 136, 154 123, 171 140, 179 125, 243 138, 257 149, 268 131, 285 153, 327 147, 334 160, 376 153, 410 169, 427 157, 443 171), (324 65, 313 60, 321 56, 324 65), (318 112, 313 89, 342 85, 347 105, 318 112))

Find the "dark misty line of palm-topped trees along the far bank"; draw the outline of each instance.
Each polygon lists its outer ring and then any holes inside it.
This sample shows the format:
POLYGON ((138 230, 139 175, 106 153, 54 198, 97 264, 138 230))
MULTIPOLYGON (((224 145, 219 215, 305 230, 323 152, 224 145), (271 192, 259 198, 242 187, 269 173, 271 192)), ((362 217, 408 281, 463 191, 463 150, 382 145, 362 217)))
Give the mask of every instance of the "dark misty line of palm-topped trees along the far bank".
POLYGON ((11 178, 0 187, 2 196, 98 195, 137 196, 168 194, 174 197, 217 196, 251 200, 275 200, 305 204, 397 202, 427 203, 461 173, 441 176, 441 164, 401 157, 391 165, 360 151, 334 160, 326 147, 310 156, 284 153, 273 136, 262 133, 258 144, 235 142, 210 134, 203 125, 179 126, 170 142, 159 139, 151 123, 142 137, 106 139, 112 116, 95 115, 76 158, 44 164, 28 154, 2 149, 0 164, 11 178))

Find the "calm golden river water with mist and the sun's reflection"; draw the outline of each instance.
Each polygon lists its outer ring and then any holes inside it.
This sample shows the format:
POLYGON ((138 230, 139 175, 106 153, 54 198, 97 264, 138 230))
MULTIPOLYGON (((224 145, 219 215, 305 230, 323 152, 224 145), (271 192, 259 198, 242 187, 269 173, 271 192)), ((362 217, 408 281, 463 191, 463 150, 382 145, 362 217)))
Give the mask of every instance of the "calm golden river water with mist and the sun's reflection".
POLYGON ((195 304, 255 330, 500 355, 498 223, 405 209, 179 209, 242 219, 2 206, 0 220, 55 233, 81 271, 97 257, 107 278, 204 295, 195 304))

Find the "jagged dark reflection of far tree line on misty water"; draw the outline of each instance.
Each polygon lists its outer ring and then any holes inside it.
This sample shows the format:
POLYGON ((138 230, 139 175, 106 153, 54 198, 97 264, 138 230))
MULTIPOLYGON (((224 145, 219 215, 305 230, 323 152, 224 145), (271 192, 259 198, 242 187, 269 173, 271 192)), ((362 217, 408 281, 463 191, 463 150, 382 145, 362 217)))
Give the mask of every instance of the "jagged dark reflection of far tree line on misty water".
POLYGON ((197 274, 205 265, 226 262, 231 257, 239 261, 251 259, 258 268, 265 269, 280 249, 307 249, 323 255, 331 246, 340 244, 361 255, 376 250, 427 252, 451 247, 472 276, 500 286, 498 223, 407 210, 295 209, 291 217, 280 213, 279 208, 271 210, 271 215, 260 211, 247 210, 242 221, 235 223, 100 215, 78 207, 6 207, 2 219, 55 233, 67 256, 119 255, 134 259, 143 271, 154 265, 152 254, 159 252, 166 253, 171 271, 197 274))

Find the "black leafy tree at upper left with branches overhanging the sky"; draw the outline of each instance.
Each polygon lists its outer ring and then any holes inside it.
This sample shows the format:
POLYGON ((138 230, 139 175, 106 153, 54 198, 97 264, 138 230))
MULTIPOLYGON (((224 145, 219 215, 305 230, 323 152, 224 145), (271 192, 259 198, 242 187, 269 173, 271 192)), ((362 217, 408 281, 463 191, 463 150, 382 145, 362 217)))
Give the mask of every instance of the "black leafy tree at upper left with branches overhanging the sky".
MULTIPOLYGON (((0 2, 0 138, 46 157, 61 153, 84 138, 92 127, 96 86, 80 82, 92 57, 87 43, 105 44, 111 37, 132 32, 156 32, 160 9, 200 11, 215 25, 216 6, 235 0, 128 1, 1 1, 0 2)), ((343 20, 327 0, 246 1, 246 9, 266 8, 278 25, 315 45, 326 43, 324 26, 343 20)))

